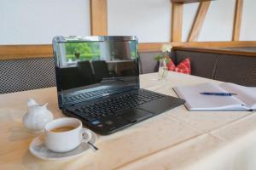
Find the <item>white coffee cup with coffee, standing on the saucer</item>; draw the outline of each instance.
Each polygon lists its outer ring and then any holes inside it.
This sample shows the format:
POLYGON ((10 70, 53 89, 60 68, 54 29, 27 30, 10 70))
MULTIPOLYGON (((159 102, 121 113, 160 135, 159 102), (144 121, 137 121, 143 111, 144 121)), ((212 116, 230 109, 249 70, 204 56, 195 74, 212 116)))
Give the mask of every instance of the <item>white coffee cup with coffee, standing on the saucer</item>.
POLYGON ((55 152, 67 152, 79 146, 82 142, 89 142, 92 134, 89 129, 83 128, 79 119, 63 117, 47 123, 44 127, 45 145, 55 152), (58 127, 74 127, 64 132, 54 132, 58 127))

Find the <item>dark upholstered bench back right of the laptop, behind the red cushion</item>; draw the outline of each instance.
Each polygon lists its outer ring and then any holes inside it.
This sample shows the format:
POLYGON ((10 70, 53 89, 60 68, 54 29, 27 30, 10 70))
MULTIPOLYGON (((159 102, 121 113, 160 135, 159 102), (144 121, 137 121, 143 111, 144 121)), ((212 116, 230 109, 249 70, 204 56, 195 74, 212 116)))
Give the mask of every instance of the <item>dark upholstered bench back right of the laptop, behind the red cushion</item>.
MULTIPOLYGON (((154 60, 155 54, 158 53, 141 54, 143 74, 158 71, 158 63, 154 60)), ((176 65, 189 57, 191 74, 194 76, 256 87, 256 55, 218 53, 213 50, 200 52, 174 48, 170 56, 176 65)))

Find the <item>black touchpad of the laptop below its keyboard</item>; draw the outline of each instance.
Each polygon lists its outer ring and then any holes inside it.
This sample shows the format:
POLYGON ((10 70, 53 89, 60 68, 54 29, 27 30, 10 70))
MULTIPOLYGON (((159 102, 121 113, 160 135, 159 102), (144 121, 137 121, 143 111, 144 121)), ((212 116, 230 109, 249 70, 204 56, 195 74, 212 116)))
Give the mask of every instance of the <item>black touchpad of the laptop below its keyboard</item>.
POLYGON ((149 116, 153 116, 153 114, 141 109, 131 109, 129 111, 124 111, 120 116, 128 122, 137 122, 144 120, 149 116))

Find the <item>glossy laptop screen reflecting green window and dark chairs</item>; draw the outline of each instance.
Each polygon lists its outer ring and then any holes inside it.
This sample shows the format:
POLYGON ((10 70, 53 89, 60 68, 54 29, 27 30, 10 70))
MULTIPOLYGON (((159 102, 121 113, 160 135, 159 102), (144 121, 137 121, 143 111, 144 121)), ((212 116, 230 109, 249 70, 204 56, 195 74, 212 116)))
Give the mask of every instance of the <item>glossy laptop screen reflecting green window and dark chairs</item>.
POLYGON ((136 37, 55 37, 59 106, 139 88, 136 37))

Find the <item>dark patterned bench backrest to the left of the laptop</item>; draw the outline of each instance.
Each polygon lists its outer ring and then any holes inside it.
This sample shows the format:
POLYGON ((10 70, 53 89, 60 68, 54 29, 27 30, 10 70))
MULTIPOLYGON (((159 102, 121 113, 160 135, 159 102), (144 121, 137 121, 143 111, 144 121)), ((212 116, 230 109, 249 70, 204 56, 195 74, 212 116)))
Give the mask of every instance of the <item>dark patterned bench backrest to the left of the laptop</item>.
POLYGON ((0 94, 55 86, 53 58, 0 60, 0 94))

